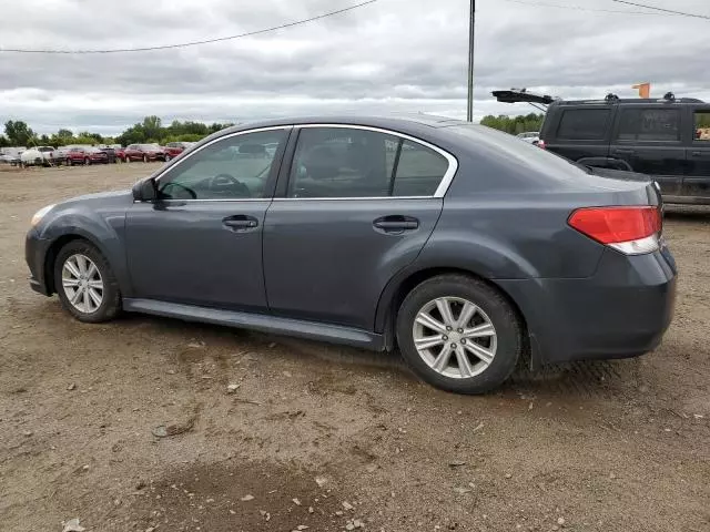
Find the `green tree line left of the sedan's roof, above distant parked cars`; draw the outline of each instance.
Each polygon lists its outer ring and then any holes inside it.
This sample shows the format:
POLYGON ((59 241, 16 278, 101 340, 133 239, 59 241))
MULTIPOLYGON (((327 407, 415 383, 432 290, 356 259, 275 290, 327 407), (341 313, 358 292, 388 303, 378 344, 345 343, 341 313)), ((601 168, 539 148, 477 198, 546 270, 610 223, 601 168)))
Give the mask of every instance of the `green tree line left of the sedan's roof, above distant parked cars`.
POLYGON ((61 129, 51 135, 38 135, 21 120, 9 120, 4 124, 4 135, 0 134, 0 147, 9 146, 67 146, 70 144, 165 144, 169 142, 196 142, 231 123, 204 124, 202 122, 173 120, 164 126, 159 116, 145 116, 142 122, 133 124, 116 136, 102 136, 99 133, 81 131, 74 133, 69 129, 61 129))

